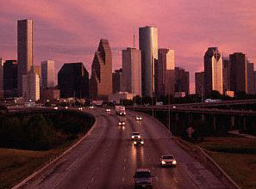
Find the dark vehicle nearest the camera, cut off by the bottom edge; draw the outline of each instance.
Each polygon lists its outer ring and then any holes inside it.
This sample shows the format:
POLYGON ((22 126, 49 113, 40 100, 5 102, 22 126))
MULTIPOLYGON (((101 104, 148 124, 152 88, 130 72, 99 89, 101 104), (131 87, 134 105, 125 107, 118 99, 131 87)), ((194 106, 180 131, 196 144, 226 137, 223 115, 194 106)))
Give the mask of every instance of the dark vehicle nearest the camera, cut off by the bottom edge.
POLYGON ((134 188, 153 188, 153 179, 149 168, 137 168, 134 174, 134 188))

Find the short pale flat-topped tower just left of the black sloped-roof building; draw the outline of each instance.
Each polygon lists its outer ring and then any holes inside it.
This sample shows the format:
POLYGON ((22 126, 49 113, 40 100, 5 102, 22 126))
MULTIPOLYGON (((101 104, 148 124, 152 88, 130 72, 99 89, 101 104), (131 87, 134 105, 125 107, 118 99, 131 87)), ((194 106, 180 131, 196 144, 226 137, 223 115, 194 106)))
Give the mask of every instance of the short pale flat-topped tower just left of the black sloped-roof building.
POLYGON ((54 87, 55 66, 53 60, 41 62, 41 88, 54 87))

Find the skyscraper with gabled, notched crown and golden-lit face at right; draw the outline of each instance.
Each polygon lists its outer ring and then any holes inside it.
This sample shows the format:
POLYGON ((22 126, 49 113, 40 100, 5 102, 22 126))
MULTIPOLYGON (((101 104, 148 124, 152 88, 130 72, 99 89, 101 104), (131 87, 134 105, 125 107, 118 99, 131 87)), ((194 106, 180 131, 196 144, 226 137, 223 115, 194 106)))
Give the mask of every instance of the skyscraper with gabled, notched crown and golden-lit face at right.
POLYGON ((222 56, 217 47, 208 48, 204 54, 204 93, 219 91, 223 94, 222 56))

